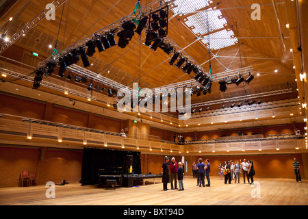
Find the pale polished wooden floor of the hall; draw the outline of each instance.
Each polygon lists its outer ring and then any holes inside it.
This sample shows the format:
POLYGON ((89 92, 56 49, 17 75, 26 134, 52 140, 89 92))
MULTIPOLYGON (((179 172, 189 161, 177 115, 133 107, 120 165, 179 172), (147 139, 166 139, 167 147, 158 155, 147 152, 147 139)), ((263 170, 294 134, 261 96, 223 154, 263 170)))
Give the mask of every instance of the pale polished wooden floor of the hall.
POLYGON ((199 188, 196 179, 185 177, 185 191, 164 191, 162 183, 116 190, 73 183, 56 185, 55 198, 46 198, 44 185, 0 188, 0 205, 171 205, 175 200, 177 205, 308 205, 307 180, 301 183, 294 179, 255 181, 260 185, 260 198, 251 196, 256 187, 248 183, 225 185, 219 177, 211 177, 211 187, 199 188))

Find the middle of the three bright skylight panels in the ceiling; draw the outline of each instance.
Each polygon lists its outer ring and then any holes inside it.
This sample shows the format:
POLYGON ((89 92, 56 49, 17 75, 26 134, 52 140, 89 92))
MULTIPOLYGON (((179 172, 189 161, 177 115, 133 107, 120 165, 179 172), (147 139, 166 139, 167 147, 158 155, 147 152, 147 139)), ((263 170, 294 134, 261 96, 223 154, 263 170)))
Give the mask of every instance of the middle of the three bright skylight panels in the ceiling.
POLYGON ((199 12, 187 17, 188 21, 185 21, 185 25, 191 28, 192 32, 199 36, 207 34, 218 29, 224 28, 227 24, 225 18, 222 17, 220 10, 207 10, 207 12, 199 12))

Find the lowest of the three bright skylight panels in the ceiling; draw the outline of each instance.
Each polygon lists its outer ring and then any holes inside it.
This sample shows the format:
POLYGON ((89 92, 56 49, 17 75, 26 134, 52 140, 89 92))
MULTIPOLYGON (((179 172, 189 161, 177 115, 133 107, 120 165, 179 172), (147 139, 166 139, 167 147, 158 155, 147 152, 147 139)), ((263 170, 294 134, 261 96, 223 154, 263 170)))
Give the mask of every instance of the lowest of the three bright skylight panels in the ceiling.
POLYGON ((227 31, 226 29, 223 29, 222 31, 218 31, 213 34, 209 34, 209 36, 205 36, 205 39, 201 41, 207 45, 208 49, 210 48, 217 50, 224 47, 233 46, 236 42, 238 42, 238 39, 234 37, 232 30, 227 31), (208 37, 209 40, 207 39, 208 37))

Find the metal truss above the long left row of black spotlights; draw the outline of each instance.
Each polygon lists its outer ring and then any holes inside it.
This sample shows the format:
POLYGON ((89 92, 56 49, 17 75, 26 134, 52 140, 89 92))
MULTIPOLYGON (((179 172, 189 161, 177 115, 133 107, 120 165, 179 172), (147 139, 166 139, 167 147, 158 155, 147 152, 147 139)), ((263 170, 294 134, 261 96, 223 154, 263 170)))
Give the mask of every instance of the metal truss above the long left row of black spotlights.
POLYGON ((55 54, 52 57, 49 57, 46 60, 40 62, 38 64, 38 68, 45 66, 48 62, 57 61, 60 57, 63 57, 64 55, 68 54, 72 49, 77 49, 78 47, 86 47, 86 42, 88 42, 89 40, 95 39, 96 36, 99 36, 99 35, 103 36, 104 34, 109 33, 109 32, 115 33, 116 31, 122 30, 123 29, 122 24, 125 21, 132 21, 133 18, 139 19, 142 16, 148 16, 149 14, 151 14, 151 12, 155 10, 159 10, 160 8, 164 8, 166 5, 169 5, 169 10, 171 10, 172 8, 175 8, 174 2, 175 0, 166 1, 166 3, 162 3, 161 0, 153 1, 153 3, 150 3, 149 5, 146 5, 140 8, 140 10, 137 10, 135 12, 136 14, 132 12, 131 14, 127 16, 123 16, 118 21, 110 25, 107 25, 106 27, 103 27, 102 29, 99 29, 99 31, 94 32, 90 36, 87 36, 86 38, 79 40, 78 42, 75 42, 75 44, 70 45, 70 47, 67 47, 63 51, 60 51, 58 54, 55 54))

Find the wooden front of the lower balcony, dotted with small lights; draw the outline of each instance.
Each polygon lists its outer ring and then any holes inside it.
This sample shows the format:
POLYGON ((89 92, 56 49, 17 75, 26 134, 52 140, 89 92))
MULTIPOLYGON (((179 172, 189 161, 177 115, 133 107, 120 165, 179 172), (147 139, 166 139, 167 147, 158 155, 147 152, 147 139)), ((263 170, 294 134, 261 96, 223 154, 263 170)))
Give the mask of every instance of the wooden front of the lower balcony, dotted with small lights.
POLYGON ((254 138, 242 140, 202 140, 199 142, 186 142, 174 144, 153 139, 127 136, 123 138, 120 133, 88 129, 52 123, 49 121, 23 118, 8 114, 0 114, 0 143, 5 140, 19 142, 36 142, 40 146, 53 144, 54 146, 93 146, 97 148, 125 149, 144 151, 147 153, 242 153, 242 151, 307 151, 305 136, 301 138, 254 138))

